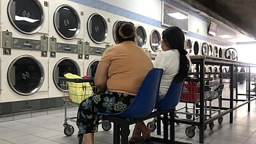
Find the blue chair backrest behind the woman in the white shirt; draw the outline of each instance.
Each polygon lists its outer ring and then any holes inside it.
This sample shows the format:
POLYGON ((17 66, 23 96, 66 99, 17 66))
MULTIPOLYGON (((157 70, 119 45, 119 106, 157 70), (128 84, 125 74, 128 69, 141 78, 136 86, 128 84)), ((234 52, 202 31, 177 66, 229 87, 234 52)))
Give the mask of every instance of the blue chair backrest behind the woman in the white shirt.
POLYGON ((180 95, 183 92, 184 81, 176 82, 172 81, 169 86, 167 94, 156 103, 156 108, 160 110, 168 110, 170 108, 175 108, 175 106, 180 102, 180 95))

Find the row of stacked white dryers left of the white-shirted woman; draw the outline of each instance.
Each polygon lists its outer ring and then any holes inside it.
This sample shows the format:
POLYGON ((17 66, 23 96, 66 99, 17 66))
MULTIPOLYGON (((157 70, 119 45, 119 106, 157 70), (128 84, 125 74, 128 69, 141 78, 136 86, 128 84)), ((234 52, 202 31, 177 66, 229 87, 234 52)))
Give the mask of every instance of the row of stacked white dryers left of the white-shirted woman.
MULTIPOLYGON (((116 23, 132 21, 63 0, 0 1, 0 7, 0 114, 63 105, 64 73, 93 77, 100 55, 116 44, 116 23)), ((137 44, 150 43, 157 53, 161 29, 152 27, 148 42, 148 26, 134 23, 137 44)))

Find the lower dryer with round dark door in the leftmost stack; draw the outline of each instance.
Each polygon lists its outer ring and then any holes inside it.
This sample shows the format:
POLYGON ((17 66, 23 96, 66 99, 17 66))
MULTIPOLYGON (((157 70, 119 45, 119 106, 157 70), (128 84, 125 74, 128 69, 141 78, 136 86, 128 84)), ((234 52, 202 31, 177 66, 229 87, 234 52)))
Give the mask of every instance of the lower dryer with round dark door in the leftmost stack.
POLYGON ((11 32, 3 31, 1 39, 1 103, 46 99, 48 57, 41 47, 47 45, 47 37, 14 39, 11 32))

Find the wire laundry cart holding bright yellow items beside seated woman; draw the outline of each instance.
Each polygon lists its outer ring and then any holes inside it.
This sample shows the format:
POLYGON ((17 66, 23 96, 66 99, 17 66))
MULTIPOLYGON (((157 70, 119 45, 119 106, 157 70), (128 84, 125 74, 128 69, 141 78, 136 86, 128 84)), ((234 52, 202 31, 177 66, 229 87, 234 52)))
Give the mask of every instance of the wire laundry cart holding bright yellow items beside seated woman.
MULTIPOLYGON (((94 84, 94 79, 60 79, 60 86, 63 89, 64 105, 64 134, 67 136, 73 135, 74 128, 68 121, 76 123, 76 117, 67 116, 68 105, 79 105, 83 100, 94 95, 97 92, 97 88, 94 84)), ((111 129, 111 123, 109 121, 102 121, 102 128, 105 131, 111 129)))

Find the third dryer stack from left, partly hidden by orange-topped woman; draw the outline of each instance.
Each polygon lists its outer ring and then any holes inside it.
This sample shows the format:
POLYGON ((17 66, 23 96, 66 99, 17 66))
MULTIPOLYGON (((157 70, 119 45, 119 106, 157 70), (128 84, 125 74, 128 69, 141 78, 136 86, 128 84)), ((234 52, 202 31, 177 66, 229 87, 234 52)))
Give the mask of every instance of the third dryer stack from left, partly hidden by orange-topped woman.
POLYGON ((109 23, 113 16, 111 17, 108 12, 102 15, 102 11, 91 7, 84 9, 87 9, 87 14, 90 14, 85 15, 87 24, 84 25, 87 27, 87 31, 84 32, 84 76, 94 78, 100 57, 105 49, 110 47, 108 31, 110 31, 109 23))

